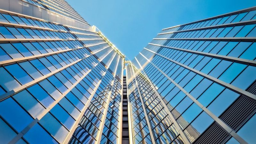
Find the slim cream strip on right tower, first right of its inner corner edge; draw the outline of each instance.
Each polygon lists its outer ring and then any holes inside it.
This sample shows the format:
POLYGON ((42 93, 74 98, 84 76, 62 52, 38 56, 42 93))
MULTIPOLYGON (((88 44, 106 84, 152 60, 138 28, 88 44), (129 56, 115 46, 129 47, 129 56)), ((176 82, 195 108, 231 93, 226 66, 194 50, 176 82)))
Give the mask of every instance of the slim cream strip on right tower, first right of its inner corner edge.
POLYGON ((139 93, 139 96, 140 96, 140 101, 141 101, 141 104, 142 104, 143 112, 144 112, 144 114, 145 114, 145 119, 146 119, 146 121, 147 121, 147 125, 148 125, 148 130, 149 130, 150 138, 151 138, 152 144, 156 144, 155 138, 154 138, 154 135, 153 135, 153 132, 152 132, 152 129, 151 129, 151 125, 150 125, 150 123, 149 123, 148 114, 147 114, 147 112, 146 112, 145 105, 144 105, 144 103, 143 103, 143 99, 142 99, 141 94, 140 94, 139 85, 138 85, 136 76, 135 76, 135 74, 134 74, 134 69, 133 69, 133 67, 132 67, 132 62, 130 62, 130 64, 131 64, 131 68, 132 68, 133 77, 134 77, 134 79, 135 79, 135 84, 136 84, 136 86, 137 86, 138 93, 139 93))

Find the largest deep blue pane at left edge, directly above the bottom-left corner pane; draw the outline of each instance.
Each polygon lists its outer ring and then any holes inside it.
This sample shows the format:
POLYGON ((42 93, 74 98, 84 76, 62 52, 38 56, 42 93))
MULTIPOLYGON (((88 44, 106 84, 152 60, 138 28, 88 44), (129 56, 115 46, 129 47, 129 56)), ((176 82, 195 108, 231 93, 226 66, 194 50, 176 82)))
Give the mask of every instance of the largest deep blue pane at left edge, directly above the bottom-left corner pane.
POLYGON ((0 115, 18 132, 33 121, 12 98, 0 102, 0 115))

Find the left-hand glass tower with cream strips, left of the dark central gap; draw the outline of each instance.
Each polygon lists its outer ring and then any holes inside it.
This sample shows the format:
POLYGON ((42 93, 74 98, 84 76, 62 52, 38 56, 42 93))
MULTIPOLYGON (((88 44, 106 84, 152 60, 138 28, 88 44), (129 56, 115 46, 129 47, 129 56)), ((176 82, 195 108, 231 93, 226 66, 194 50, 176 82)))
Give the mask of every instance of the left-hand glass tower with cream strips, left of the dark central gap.
POLYGON ((64 0, 1 0, 0 143, 121 143, 123 70, 64 0))

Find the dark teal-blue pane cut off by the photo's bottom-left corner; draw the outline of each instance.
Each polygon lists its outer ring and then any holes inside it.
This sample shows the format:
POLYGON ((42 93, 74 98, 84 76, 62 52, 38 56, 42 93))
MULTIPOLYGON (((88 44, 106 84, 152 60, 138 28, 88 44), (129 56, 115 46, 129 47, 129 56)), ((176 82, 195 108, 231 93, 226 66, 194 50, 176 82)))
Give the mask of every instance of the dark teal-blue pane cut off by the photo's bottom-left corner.
POLYGON ((16 133, 0 118, 0 140, 1 143, 9 143, 16 133))

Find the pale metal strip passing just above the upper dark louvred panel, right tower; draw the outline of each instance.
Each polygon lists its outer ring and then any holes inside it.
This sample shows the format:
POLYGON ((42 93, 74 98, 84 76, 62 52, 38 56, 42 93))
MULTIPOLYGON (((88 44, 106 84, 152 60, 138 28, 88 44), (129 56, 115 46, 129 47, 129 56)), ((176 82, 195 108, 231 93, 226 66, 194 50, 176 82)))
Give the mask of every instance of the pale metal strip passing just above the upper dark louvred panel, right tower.
MULTIPOLYGON (((146 49, 146 48, 144 48, 144 49, 146 49)), ((146 50, 148 50, 148 49, 146 49, 146 50)), ((199 74, 199 75, 201 75, 201 76, 203 76, 203 77, 206 77, 207 79, 210 79, 210 80, 212 80, 213 82, 216 82, 216 83, 218 83, 218 84, 220 84, 220 85, 222 85, 222 86, 224 86, 224 87, 228 87, 229 89, 231 89, 231 90, 233 90, 233 91, 236 91, 236 92, 238 92, 238 93, 240 93, 240 94, 243 94, 243 95, 245 95, 245 96, 248 96, 248 97, 250 97, 250 98, 256 100, 256 95, 254 95, 254 94, 252 94, 252 93, 250 93, 250 92, 247 92, 247 91, 242 90, 242 89, 240 89, 240 88, 238 88, 238 87, 236 87, 236 86, 233 86, 233 85, 231 85, 231 84, 228 84, 228 83, 226 83, 226 82, 223 82, 223 81, 221 81, 221 80, 219 80, 219 79, 217 79, 217 78, 215 78, 215 77, 206 75, 206 74, 204 74, 204 73, 202 73, 202 72, 200 72, 200 71, 198 71, 198 70, 196 70, 196 69, 194 69, 194 68, 190 68, 190 67, 188 67, 188 66, 185 66, 184 64, 181 64, 181 63, 179 63, 179 62, 176 62, 176 61, 174 61, 174 60, 171 60, 171 59, 169 59, 169 58, 167 58, 167 57, 165 57, 165 56, 163 56, 163 55, 161 55, 161 54, 158 54, 158 53, 153 52, 153 51, 151 51, 151 50, 148 50, 148 51, 149 51, 149 52, 152 52, 152 53, 155 53, 155 54, 157 54, 157 55, 159 55, 159 56, 165 58, 166 60, 170 60, 170 61, 172 61, 172 62, 174 62, 174 63, 180 65, 181 67, 186 68, 186 69, 188 69, 188 70, 191 70, 191 71, 193 71, 193 72, 195 72, 195 73, 197 73, 197 74, 199 74)))

